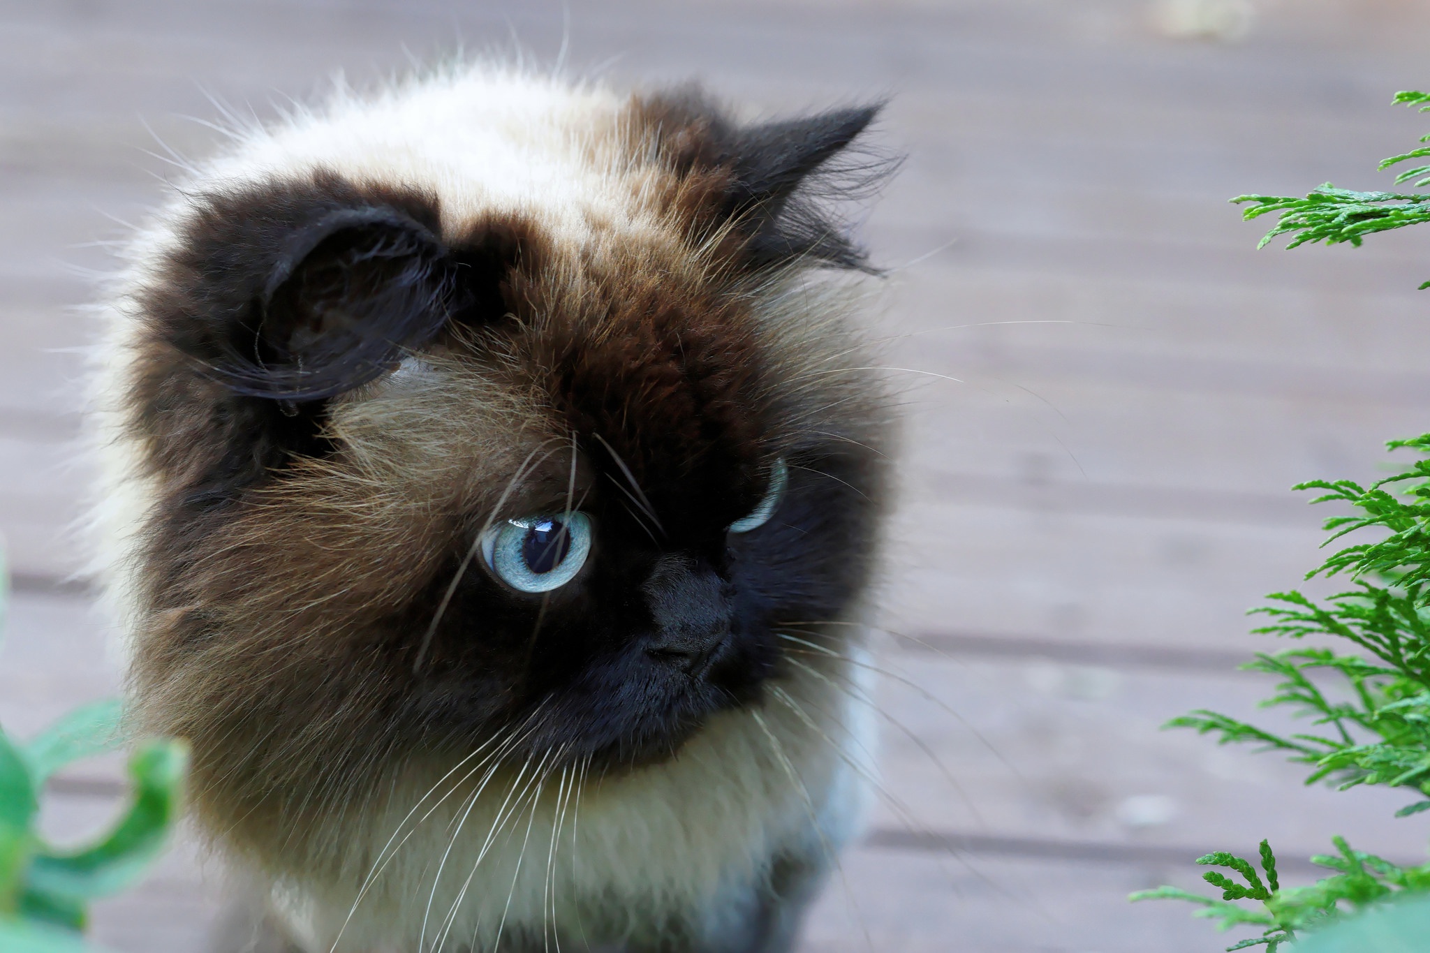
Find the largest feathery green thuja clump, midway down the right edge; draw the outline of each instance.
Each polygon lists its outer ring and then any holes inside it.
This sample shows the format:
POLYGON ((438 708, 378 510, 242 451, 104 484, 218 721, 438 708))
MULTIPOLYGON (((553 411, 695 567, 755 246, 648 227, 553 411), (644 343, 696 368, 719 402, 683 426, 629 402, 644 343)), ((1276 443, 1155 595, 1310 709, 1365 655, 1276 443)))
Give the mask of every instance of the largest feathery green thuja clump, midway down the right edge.
MULTIPOLYGON (((1396 440, 1391 449, 1430 456, 1430 434, 1396 440)), ((1260 653, 1243 666, 1280 677, 1264 707, 1283 706, 1308 716, 1313 732, 1278 734, 1247 722, 1198 710, 1170 727, 1216 734, 1226 743, 1253 743, 1286 752, 1310 766, 1307 783, 1331 780, 1341 790, 1357 784, 1407 787, 1421 797, 1399 814, 1430 809, 1430 459, 1370 487, 1351 480, 1313 480, 1300 490, 1323 490, 1316 503, 1344 502, 1358 513, 1326 520, 1327 543, 1364 529, 1387 534, 1336 552, 1307 577, 1344 576, 1350 589, 1324 600, 1298 590, 1271 593, 1254 613, 1270 624, 1256 633, 1336 636, 1358 649, 1291 649, 1260 653), (1311 673, 1337 676, 1347 692, 1336 696, 1311 673)))

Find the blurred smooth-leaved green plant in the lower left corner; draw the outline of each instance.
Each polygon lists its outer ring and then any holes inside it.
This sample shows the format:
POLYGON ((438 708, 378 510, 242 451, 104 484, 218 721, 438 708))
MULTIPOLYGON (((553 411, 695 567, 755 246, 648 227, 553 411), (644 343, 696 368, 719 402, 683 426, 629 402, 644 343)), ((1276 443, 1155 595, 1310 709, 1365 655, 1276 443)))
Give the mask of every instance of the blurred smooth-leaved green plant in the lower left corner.
POLYGON ((90 843, 61 847, 39 830, 40 800, 54 772, 122 747, 113 700, 70 713, 29 743, 0 729, 3 953, 96 953, 83 940, 89 903, 132 884, 163 847, 180 810, 187 752, 179 742, 152 740, 133 749, 129 807, 90 843))

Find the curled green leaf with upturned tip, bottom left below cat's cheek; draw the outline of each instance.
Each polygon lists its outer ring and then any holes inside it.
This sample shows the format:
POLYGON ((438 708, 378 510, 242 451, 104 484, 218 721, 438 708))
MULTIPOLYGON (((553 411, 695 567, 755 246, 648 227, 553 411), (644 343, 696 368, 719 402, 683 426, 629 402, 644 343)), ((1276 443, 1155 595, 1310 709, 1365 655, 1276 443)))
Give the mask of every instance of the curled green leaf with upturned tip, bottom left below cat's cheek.
POLYGON ((129 763, 134 800, 124 817, 99 843, 73 853, 40 853, 30 864, 29 884, 44 894, 92 899, 133 883, 159 853, 179 816, 187 747, 180 742, 149 742, 129 763))

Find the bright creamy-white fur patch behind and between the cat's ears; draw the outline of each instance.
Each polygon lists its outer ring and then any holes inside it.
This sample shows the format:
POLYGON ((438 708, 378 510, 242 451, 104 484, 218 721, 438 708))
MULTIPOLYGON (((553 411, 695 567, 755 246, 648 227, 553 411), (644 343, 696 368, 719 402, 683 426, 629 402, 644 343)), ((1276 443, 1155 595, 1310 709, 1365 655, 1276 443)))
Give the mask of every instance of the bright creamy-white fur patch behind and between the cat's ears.
POLYGON ((632 101, 611 90, 469 70, 376 99, 340 96, 319 113, 250 131, 200 171, 233 190, 325 170, 432 197, 448 234, 516 214, 581 241, 592 221, 652 229, 635 200, 651 171, 632 161, 642 134, 632 101))

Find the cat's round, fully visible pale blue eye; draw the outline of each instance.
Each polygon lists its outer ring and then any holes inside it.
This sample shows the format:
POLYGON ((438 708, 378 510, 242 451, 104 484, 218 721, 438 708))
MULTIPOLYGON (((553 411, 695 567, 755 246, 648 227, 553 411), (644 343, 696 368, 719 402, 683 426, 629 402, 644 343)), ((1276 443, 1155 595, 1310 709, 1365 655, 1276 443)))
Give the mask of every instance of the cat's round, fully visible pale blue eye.
POLYGON ((498 579, 523 593, 565 586, 591 554, 585 513, 503 520, 482 533, 482 557, 498 579))

